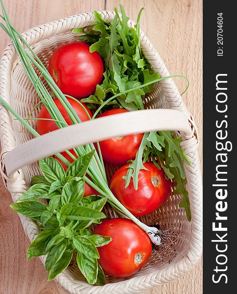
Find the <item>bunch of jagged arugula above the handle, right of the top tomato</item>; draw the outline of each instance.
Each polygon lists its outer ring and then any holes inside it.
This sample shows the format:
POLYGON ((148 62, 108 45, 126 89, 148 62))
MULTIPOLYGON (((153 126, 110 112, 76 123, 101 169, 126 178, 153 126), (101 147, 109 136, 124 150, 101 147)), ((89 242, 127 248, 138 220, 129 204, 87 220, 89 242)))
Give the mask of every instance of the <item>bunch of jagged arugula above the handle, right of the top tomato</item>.
MULTIPOLYGON (((94 11, 96 21, 93 30, 86 28, 83 31, 83 36, 80 36, 91 44, 92 37, 95 38, 97 34, 96 42, 90 46, 90 51, 97 51, 102 56, 105 66, 102 84, 97 85, 93 95, 81 100, 90 103, 90 108, 95 108, 92 106, 93 104, 102 104, 111 95, 133 89, 142 85, 144 81, 149 82, 159 78, 159 74, 151 70, 151 66, 141 50, 140 18, 142 10, 143 8, 139 12, 134 28, 128 26, 129 18, 122 5, 120 5, 121 17, 115 8, 116 14, 110 24, 94 11)), ((82 34, 81 29, 73 29, 73 32, 82 34)), ((152 89, 151 85, 131 91, 127 95, 120 95, 108 104, 118 104, 119 107, 122 106, 129 111, 143 109, 144 95, 152 89)))

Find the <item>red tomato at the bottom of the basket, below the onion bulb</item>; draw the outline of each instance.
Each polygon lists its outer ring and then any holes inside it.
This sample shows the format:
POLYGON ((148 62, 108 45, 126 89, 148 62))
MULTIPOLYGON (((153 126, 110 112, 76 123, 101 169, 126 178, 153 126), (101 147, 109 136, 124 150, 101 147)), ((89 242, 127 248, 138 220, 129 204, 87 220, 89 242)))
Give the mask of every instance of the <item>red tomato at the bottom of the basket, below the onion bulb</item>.
POLYGON ((112 241, 99 251, 99 264, 105 273, 127 277, 140 270, 151 255, 148 235, 133 221, 110 219, 97 225, 93 234, 110 236, 112 241))

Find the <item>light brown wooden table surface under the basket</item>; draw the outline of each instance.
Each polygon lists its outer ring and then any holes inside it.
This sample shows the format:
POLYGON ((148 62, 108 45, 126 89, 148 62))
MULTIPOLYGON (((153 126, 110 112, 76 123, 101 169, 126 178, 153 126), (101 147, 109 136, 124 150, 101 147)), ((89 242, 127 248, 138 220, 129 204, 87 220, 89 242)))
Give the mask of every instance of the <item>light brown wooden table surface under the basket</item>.
MULTIPOLYGON (((127 15, 136 20, 143 6, 141 28, 158 50, 171 74, 190 79, 183 96, 196 120, 202 159, 202 1, 201 0, 4 0, 12 23, 19 31, 59 18, 92 11, 113 10, 125 6, 127 15)), ((0 53, 9 42, 0 30, 0 53)), ((182 92, 186 83, 177 78, 182 92)), ((26 261, 29 245, 22 224, 9 208, 10 193, 0 179, 0 294, 66 294, 47 273, 38 258, 26 261)), ((201 294, 202 264, 189 274, 142 294, 201 294)))

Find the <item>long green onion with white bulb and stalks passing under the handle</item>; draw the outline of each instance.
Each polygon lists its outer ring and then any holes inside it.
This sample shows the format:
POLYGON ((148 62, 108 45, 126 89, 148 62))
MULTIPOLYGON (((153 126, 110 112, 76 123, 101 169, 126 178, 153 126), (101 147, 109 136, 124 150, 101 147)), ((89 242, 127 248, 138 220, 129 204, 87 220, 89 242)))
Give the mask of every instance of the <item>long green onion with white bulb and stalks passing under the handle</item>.
MULTIPOLYGON (((65 126, 68 126, 65 119, 63 118, 62 114, 60 113, 58 107, 56 106, 53 97, 57 97, 62 105, 65 107, 67 113, 69 114, 69 117, 71 119, 71 122, 73 124, 81 123, 78 115, 72 108, 71 104, 69 103, 67 97, 70 97, 77 101, 83 108, 84 106, 81 104, 80 101, 77 99, 64 95, 62 91, 58 88, 58 86, 55 84, 53 78, 48 73, 46 67, 41 62, 41 60, 38 58, 38 56, 35 54, 35 52, 30 48, 30 46, 26 43, 22 35, 11 25, 11 22, 9 20, 9 17, 7 15, 7 12, 4 8, 3 1, 0 0, 1 3, 1 10, 2 15, 0 15, 0 18, 5 21, 5 25, 0 23, 1 28, 5 31, 5 33, 12 39, 12 43, 17 51, 17 54, 22 62, 22 65, 24 67, 25 72, 27 73, 30 82, 33 84, 36 93, 39 95, 41 102, 45 105, 47 108, 47 111, 49 112, 52 120, 56 123, 58 128, 62 128, 65 126), (41 73, 40 76, 37 75, 35 72, 34 67, 35 66, 39 72, 41 73), (46 80, 47 84, 49 85, 51 91, 53 92, 53 95, 51 95, 46 86, 44 85, 42 81, 42 77, 46 80)), ((130 90, 126 90, 124 92, 121 92, 119 94, 114 95, 113 97, 107 99, 103 104, 100 105, 100 107, 96 110, 94 116, 92 119, 95 119, 95 116, 98 114, 98 112, 110 101, 114 98, 129 93, 130 91, 138 90, 142 87, 151 85, 155 82, 161 81, 166 78, 175 77, 175 76, 181 76, 181 75, 170 75, 167 77, 162 77, 159 79, 156 79, 154 81, 145 83, 141 86, 138 86, 136 88, 132 88, 130 90)), ((186 78, 185 76, 181 76, 186 78)), ((187 79, 187 78, 186 78, 187 79)), ((188 80, 188 79, 187 79, 188 80)), ((21 117, 3 98, 0 97, 0 103, 17 119, 19 120, 24 127, 32 133, 33 136, 38 137, 40 134, 28 123, 28 119, 24 119, 21 117)), ((84 108, 86 111, 86 109, 84 108)), ((86 111, 87 112, 87 111, 86 111)), ((90 118, 89 113, 87 112, 87 115, 90 118)), ((141 221, 139 221, 135 216, 133 216, 120 202, 119 200, 113 195, 111 190, 108 187, 107 179, 106 179, 106 173, 105 168, 103 164, 103 159, 101 156, 101 151, 99 148, 99 144, 97 142, 98 146, 98 153, 95 150, 94 144, 90 143, 86 146, 80 146, 80 147, 74 147, 73 150, 75 151, 76 155, 83 156, 87 154, 88 152, 94 150, 94 156, 93 159, 88 167, 87 174, 91 177, 85 176, 85 182, 87 182, 90 186, 92 186, 101 196, 108 197, 108 202, 119 212, 120 215, 122 215, 125 218, 128 218, 132 221, 134 221, 136 224, 138 224, 150 237, 151 241, 156 244, 161 244, 161 238, 159 236, 159 230, 155 227, 148 227, 141 221)), ((73 160, 75 160, 75 156, 69 151, 66 150, 66 152, 71 156, 73 160)), ((69 166, 71 163, 60 153, 55 154, 64 164, 69 166)))

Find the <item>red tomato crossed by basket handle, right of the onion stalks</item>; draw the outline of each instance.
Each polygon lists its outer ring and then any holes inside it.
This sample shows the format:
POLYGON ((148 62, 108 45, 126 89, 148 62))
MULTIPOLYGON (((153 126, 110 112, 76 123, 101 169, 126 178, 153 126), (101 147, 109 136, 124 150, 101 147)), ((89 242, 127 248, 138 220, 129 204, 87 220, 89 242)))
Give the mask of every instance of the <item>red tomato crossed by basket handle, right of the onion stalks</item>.
MULTIPOLYGON (((111 109, 100 117, 128 112, 125 109, 111 109)), ((101 154, 104 160, 116 165, 124 165, 130 159, 135 159, 136 153, 142 142, 143 134, 119 136, 99 142, 101 154)))

